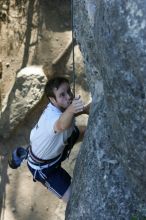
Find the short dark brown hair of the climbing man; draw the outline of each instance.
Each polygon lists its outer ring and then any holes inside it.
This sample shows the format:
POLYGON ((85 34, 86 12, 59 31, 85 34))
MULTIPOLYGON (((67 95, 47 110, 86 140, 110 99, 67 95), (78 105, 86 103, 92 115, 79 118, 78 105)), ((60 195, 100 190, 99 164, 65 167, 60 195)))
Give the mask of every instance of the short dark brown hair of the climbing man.
POLYGON ((47 98, 53 97, 56 99, 53 90, 55 88, 58 89, 60 87, 60 85, 63 83, 69 83, 69 80, 66 79, 65 77, 54 77, 54 78, 51 78, 50 80, 48 80, 48 82, 46 83, 46 86, 45 86, 45 90, 44 90, 47 98))

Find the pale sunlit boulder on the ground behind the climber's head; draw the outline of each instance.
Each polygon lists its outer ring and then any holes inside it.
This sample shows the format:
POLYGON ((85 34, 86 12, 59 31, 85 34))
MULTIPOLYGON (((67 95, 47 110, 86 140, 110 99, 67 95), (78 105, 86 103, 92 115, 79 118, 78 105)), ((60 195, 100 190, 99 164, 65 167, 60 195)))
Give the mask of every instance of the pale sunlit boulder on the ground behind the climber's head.
POLYGON ((40 101, 47 78, 41 66, 23 68, 16 77, 14 86, 3 103, 0 118, 0 136, 9 137, 17 125, 40 101))

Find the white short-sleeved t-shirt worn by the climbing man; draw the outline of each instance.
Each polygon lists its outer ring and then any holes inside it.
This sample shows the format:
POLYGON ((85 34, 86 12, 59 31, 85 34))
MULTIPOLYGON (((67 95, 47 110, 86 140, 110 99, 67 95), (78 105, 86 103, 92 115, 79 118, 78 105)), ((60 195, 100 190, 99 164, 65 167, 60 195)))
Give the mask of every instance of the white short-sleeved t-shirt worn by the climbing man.
POLYGON ((65 142, 74 129, 74 122, 69 129, 55 133, 54 124, 61 114, 62 112, 58 108, 49 103, 32 129, 30 144, 36 157, 49 160, 62 153, 65 142))

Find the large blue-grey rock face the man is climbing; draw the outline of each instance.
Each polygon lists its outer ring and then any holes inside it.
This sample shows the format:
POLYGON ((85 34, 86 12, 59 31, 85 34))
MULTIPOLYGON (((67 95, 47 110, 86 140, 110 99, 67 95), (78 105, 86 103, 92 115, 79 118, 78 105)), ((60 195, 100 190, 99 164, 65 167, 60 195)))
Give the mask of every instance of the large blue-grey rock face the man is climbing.
POLYGON ((146 216, 146 4, 75 0, 93 104, 66 219, 146 216))

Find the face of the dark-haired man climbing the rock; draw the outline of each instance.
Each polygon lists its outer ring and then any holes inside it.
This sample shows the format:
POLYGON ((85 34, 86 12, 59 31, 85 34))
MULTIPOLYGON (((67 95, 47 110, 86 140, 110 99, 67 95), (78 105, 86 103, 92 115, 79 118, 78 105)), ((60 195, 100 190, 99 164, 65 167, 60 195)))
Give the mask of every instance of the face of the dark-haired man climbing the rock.
POLYGON ((54 88, 54 94, 56 100, 53 98, 53 104, 59 108, 61 111, 64 111, 72 102, 73 94, 68 83, 62 83, 60 87, 54 88))

